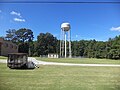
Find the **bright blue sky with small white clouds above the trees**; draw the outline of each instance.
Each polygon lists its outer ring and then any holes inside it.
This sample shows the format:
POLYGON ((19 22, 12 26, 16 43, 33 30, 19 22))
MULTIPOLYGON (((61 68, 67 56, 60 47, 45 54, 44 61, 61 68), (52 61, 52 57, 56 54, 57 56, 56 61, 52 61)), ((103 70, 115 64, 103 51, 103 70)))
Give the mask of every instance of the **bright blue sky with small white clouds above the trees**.
POLYGON ((59 39, 63 22, 71 24, 72 40, 106 41, 120 35, 120 3, 0 3, 0 36, 8 29, 29 28, 35 40, 46 32, 59 39))

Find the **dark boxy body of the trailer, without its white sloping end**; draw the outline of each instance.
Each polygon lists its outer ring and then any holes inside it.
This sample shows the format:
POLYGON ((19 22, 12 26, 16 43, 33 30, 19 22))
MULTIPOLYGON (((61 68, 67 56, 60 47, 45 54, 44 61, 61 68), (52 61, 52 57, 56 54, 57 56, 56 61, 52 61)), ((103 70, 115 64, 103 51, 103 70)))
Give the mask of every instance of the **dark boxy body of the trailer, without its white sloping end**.
POLYGON ((9 68, 27 68, 28 55, 27 53, 9 53, 7 66, 9 68))

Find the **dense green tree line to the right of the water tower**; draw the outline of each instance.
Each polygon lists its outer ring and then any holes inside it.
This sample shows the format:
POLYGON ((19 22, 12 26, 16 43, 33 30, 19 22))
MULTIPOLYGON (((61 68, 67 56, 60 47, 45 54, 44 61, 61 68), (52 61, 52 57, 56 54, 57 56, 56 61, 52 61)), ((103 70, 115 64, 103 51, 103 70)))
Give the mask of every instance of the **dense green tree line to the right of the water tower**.
POLYGON ((120 36, 106 42, 80 40, 72 42, 72 55, 87 58, 120 59, 120 36))

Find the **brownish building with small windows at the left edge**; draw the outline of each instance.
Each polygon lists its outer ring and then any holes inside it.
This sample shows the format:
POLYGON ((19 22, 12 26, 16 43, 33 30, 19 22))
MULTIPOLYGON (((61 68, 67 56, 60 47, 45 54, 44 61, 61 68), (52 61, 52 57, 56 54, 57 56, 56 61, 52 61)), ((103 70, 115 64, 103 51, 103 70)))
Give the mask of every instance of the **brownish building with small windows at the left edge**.
POLYGON ((0 38, 0 56, 8 56, 8 53, 17 53, 18 46, 11 41, 0 38))

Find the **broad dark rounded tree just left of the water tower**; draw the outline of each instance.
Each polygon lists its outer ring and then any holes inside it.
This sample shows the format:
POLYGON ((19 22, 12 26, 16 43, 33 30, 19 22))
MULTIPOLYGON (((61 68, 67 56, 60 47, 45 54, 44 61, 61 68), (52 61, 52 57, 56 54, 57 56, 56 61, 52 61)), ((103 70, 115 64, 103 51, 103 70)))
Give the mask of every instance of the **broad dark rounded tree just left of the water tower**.
POLYGON ((57 38, 50 33, 40 33, 37 36, 37 55, 47 55, 48 53, 57 53, 57 38))

